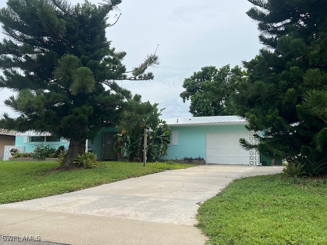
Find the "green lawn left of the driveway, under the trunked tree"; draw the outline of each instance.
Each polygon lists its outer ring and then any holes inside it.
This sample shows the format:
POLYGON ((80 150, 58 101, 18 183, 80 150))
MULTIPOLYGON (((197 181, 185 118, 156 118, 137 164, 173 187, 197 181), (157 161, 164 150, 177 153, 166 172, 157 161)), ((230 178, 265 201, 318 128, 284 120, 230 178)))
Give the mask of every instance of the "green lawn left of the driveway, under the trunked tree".
POLYGON ((0 204, 13 203, 106 184, 114 181, 186 168, 190 164, 164 162, 98 162, 96 168, 59 171, 58 162, 0 161, 0 204))

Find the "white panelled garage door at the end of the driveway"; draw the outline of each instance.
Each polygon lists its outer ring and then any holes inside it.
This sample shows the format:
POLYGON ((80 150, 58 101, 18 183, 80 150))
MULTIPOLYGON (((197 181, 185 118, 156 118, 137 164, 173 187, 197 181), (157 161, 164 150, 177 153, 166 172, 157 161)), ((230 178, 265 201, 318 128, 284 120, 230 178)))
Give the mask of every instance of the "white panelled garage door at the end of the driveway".
POLYGON ((242 149, 240 138, 249 139, 248 132, 207 133, 207 164, 249 165, 249 152, 242 149))

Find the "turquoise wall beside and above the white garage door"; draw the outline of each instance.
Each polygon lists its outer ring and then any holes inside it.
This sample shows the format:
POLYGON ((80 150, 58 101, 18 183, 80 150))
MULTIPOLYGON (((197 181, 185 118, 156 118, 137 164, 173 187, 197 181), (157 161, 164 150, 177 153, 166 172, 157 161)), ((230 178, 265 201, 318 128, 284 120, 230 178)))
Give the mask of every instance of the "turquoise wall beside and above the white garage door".
MULTIPOLYGON (((206 154, 206 133, 215 132, 246 132, 245 125, 217 126, 179 126, 171 127, 178 131, 178 145, 168 146, 165 159, 182 159, 183 157, 202 157, 206 154)), ((172 141, 172 140, 171 140, 172 141)))

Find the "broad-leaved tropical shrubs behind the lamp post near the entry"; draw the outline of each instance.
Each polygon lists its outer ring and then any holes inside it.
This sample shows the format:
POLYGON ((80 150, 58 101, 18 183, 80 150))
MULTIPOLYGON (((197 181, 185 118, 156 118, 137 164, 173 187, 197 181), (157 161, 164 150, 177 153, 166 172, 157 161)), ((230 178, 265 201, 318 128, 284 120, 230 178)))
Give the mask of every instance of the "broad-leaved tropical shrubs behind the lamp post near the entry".
POLYGON ((142 161, 144 129, 151 128, 153 131, 148 132, 147 136, 147 159, 157 161, 167 155, 170 127, 159 119, 164 109, 158 110, 158 104, 139 103, 138 99, 134 96, 131 103, 134 110, 123 113, 122 123, 118 126, 120 133, 116 134, 115 153, 126 156, 129 161, 142 161), (159 123, 163 124, 161 128, 158 126, 159 123))

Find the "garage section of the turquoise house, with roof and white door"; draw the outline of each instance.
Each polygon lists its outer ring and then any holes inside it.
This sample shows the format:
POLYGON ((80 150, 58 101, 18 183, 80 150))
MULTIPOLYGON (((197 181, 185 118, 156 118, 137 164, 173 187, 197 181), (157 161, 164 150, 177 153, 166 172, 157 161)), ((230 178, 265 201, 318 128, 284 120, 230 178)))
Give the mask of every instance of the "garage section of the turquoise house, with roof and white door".
POLYGON ((259 165, 259 152, 240 146, 240 138, 255 140, 240 116, 167 118, 166 122, 172 130, 166 159, 200 156, 206 164, 259 165))

